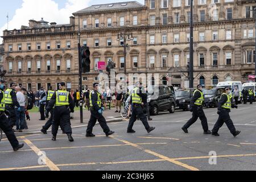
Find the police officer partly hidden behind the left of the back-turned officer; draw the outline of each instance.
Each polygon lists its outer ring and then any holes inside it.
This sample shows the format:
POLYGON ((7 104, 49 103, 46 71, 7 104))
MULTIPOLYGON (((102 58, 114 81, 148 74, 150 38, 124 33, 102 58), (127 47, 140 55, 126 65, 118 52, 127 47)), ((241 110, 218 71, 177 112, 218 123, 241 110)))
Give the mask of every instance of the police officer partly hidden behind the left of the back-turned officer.
MULTIPOLYGON (((53 94, 55 93, 55 91, 52 90, 52 86, 49 87, 49 90, 47 90, 46 92, 46 95, 47 95, 47 98, 46 98, 46 107, 47 105, 49 104, 49 101, 51 100, 53 94)), ((51 113, 51 117, 48 119, 48 121, 46 122, 46 124, 43 126, 41 132, 43 134, 47 134, 47 130, 49 129, 49 127, 52 126, 52 119, 53 119, 53 108, 51 109, 50 111, 51 113)), ((49 117, 49 113, 46 111, 46 118, 49 117)))

